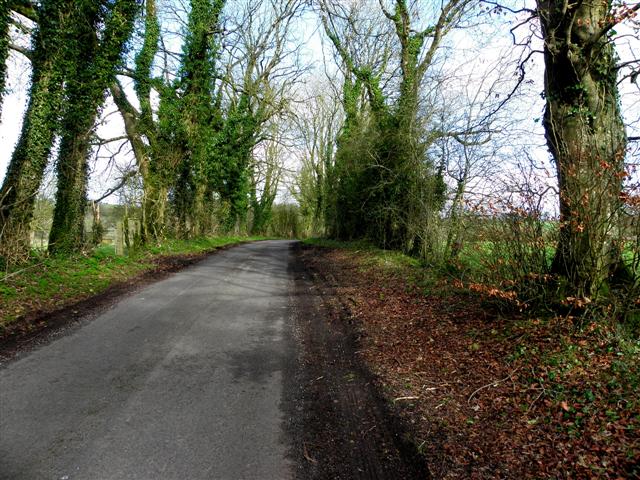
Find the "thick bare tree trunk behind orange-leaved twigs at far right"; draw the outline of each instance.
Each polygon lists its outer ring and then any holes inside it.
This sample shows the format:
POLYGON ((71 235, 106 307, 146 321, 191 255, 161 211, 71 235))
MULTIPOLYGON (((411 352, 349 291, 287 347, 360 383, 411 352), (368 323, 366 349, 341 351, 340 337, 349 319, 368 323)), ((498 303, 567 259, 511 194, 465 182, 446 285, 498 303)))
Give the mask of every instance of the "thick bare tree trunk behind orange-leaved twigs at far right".
POLYGON ((560 191, 553 270, 566 279, 568 294, 593 297, 618 264, 627 145, 607 35, 611 2, 538 0, 538 11, 545 38, 544 127, 560 191))

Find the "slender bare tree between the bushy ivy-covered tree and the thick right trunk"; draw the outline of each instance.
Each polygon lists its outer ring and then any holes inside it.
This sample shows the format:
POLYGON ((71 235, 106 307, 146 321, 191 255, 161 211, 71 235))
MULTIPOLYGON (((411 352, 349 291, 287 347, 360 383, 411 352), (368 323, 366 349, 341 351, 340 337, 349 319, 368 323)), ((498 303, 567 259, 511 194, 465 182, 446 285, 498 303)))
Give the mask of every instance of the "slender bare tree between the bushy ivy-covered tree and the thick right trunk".
MULTIPOLYGON (((478 48, 482 51, 485 45, 478 48)), ((523 88, 514 90, 513 83, 518 81, 513 78, 511 53, 502 51, 491 62, 476 50, 467 55, 466 71, 447 75, 446 91, 436 87, 442 106, 432 121, 449 134, 434 143, 431 154, 440 158, 449 188, 441 222, 441 237, 446 241, 436 252, 440 258, 433 261, 456 261, 467 233, 465 224, 475 216, 472 210, 491 202, 486 194, 494 196, 493 204, 500 203, 504 192, 497 188, 496 179, 509 171, 518 142, 522 114, 517 114, 518 105, 507 102, 522 99, 523 88)))

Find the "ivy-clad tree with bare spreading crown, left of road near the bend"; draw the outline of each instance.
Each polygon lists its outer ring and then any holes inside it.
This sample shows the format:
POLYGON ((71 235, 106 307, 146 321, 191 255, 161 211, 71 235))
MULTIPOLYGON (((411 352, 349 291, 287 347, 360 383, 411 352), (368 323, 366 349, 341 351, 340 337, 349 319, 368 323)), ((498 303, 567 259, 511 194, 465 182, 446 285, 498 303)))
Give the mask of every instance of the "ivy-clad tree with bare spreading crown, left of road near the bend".
MULTIPOLYGON (((265 127, 288 110, 286 95, 300 75, 295 48, 288 39, 304 2, 247 2, 231 41, 241 58, 240 68, 228 75, 228 109, 224 126, 212 143, 215 190, 227 215, 223 226, 232 229, 247 218, 251 195, 253 149, 268 138, 265 127), (234 73, 236 77, 234 78, 234 73)), ((233 69, 232 69, 233 70, 233 69)))

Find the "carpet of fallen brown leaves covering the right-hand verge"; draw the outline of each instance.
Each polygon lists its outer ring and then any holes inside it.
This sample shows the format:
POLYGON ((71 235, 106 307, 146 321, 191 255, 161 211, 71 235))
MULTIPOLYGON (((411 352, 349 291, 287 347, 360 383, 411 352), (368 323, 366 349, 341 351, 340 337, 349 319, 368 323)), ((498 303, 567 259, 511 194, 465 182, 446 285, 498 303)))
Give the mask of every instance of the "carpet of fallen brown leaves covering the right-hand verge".
POLYGON ((330 279, 334 321, 354 322, 434 478, 640 478, 638 353, 618 355, 600 326, 483 308, 517 301, 509 291, 454 280, 424 295, 366 255, 313 249, 305 261, 330 279))

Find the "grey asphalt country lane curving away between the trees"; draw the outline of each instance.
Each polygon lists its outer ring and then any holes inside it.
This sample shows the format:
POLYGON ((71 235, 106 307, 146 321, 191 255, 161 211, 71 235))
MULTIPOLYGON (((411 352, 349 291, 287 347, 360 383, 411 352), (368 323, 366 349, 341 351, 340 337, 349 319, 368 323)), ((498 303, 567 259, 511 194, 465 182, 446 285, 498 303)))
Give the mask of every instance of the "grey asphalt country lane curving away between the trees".
POLYGON ((7 365, 0 478, 290 478, 289 247, 208 257, 7 365))

